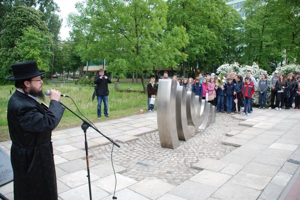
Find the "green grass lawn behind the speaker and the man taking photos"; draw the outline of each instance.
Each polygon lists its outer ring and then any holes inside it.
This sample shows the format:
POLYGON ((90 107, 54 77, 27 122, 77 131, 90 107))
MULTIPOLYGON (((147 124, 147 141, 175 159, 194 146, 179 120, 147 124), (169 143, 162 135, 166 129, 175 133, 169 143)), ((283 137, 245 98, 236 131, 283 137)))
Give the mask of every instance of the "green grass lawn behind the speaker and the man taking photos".
MULTIPOLYGON (((70 96, 76 103, 80 112, 92 122, 104 121, 111 118, 119 118, 132 114, 137 114, 139 109, 147 110, 147 94, 139 92, 118 92, 114 90, 114 82, 108 84, 109 95, 108 95, 108 114, 109 118, 101 117, 97 118, 97 99, 91 101, 93 93, 93 86, 88 85, 75 85, 73 82, 67 83, 43 83, 43 91, 46 89, 55 88, 61 93, 70 96)), ((134 90, 142 90, 141 83, 119 83, 120 89, 132 88, 134 90)), ((13 93, 15 87, 11 85, 0 86, 0 141, 9 140, 9 133, 7 127, 6 110, 7 102, 13 93)), ((73 101, 68 97, 61 97, 61 103, 66 105, 68 108, 73 110, 76 114, 80 115, 79 111, 76 110, 76 106, 73 101)), ((41 100, 39 100, 41 102, 41 100)), ((49 104, 49 97, 45 96, 46 104, 49 104)), ((102 104, 103 112, 103 104, 102 104)), ((104 116, 104 114, 102 113, 104 116)), ((56 129, 64 129, 81 125, 82 121, 77 118, 70 111, 65 110, 60 123, 56 129)))

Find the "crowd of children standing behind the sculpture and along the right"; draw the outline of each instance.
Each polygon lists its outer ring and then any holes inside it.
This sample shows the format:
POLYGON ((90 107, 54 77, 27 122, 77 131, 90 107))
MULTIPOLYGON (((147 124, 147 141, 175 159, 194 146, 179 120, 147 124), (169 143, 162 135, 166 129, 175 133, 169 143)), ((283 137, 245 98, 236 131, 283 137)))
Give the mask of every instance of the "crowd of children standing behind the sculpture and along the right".
MULTIPOLYGON (((177 85, 186 87, 187 91, 193 91, 195 95, 205 99, 216 106, 217 112, 240 113, 250 115, 252 112, 252 96, 255 92, 255 86, 258 87, 259 108, 266 107, 266 94, 270 87, 270 106, 269 109, 275 108, 281 110, 290 109, 294 99, 294 109, 300 109, 300 72, 294 74, 290 72, 286 76, 284 73, 278 75, 279 71, 275 70, 271 81, 267 80, 266 74, 262 74, 256 83, 255 78, 251 75, 251 71, 247 70, 244 77, 236 74, 235 76, 224 77, 223 81, 217 82, 217 76, 214 73, 200 73, 195 79, 193 78, 177 78, 173 76, 173 80, 177 85), (256 85, 257 84, 257 85, 256 85), (275 100, 276 98, 276 100, 275 100)), ((163 78, 166 78, 167 72, 164 72, 163 78)), ((153 77, 152 77, 153 78, 153 77)), ((154 105, 149 104, 151 97, 156 95, 156 86, 152 79, 147 85, 148 89, 148 110, 154 110, 154 105)))

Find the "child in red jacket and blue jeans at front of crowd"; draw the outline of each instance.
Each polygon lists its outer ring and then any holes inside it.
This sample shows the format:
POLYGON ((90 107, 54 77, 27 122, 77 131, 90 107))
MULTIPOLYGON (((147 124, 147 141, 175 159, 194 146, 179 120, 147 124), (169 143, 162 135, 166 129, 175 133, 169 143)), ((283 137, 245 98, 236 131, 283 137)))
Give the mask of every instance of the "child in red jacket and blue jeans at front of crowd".
POLYGON ((255 92, 255 87, 251 78, 245 77, 245 82, 241 88, 242 96, 244 97, 244 113, 242 115, 250 115, 252 95, 255 92))

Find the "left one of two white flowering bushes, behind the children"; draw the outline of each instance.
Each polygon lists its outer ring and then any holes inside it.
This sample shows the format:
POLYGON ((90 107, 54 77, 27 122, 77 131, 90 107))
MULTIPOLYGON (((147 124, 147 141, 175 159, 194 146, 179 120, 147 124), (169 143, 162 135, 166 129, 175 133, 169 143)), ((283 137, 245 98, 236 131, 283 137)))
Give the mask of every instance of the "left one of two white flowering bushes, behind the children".
MULTIPOLYGON (((216 73, 218 74, 223 74, 226 72, 235 72, 238 75, 241 75, 244 77, 247 73, 247 70, 251 70, 252 76, 256 80, 256 85, 255 85, 255 93, 253 94, 253 103, 254 104, 259 104, 259 94, 258 94, 258 82, 261 78, 261 74, 264 73, 267 75, 267 80, 268 83, 270 83, 271 76, 267 74, 266 70, 263 70, 259 68, 259 66, 253 62, 251 66, 249 65, 239 65, 237 62, 234 62, 233 64, 222 64, 216 69, 216 73)), ((266 95, 266 101, 269 103, 270 101, 270 90, 268 88, 267 95, 266 95)))

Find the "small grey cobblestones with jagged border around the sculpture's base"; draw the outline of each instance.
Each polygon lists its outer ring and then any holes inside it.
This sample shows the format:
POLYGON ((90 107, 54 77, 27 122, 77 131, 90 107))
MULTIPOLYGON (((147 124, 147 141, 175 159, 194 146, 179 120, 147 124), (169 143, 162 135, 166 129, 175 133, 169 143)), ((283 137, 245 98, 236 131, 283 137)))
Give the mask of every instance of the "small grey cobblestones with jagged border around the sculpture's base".
MULTIPOLYGON (((240 120, 229 114, 217 113, 216 121, 204 131, 197 133, 188 141, 179 141, 175 149, 161 148, 158 132, 139 136, 138 140, 119 143, 113 148, 113 163, 126 168, 122 174, 140 181, 146 177, 156 177, 177 185, 199 172, 191 165, 199 158, 220 159, 236 147, 223 145, 225 133, 240 129, 240 120)), ((95 165, 110 160, 112 144, 90 148, 93 156, 90 164, 95 165)))

